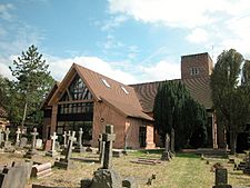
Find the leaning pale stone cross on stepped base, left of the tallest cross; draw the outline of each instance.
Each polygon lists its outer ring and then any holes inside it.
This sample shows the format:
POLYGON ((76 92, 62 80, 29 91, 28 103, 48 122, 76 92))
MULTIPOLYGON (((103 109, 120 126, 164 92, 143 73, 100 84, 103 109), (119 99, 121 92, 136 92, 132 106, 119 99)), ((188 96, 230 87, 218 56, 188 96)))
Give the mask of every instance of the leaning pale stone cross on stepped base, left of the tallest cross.
POLYGON ((60 158, 60 161, 56 161, 54 166, 59 168, 63 168, 66 170, 71 169, 73 167, 72 161, 70 160, 71 154, 72 154, 72 147, 73 147, 73 141, 76 141, 74 138, 76 131, 72 131, 72 136, 69 137, 69 142, 66 151, 66 158, 62 159, 60 158))

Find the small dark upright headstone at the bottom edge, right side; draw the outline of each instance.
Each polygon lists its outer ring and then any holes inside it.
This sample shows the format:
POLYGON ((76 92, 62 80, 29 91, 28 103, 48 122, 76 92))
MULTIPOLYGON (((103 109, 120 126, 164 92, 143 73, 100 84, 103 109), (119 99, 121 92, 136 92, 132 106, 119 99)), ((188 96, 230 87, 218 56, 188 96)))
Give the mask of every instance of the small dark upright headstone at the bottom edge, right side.
POLYGON ((217 168, 216 169, 216 186, 213 186, 213 188, 232 188, 231 185, 228 185, 227 168, 217 168))

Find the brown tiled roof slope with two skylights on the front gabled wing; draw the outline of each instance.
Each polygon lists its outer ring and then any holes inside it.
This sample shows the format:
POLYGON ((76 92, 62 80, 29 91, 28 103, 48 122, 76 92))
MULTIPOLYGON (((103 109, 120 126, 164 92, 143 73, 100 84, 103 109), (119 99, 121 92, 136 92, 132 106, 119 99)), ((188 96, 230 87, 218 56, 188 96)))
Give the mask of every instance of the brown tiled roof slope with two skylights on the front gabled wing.
POLYGON ((141 105, 132 87, 112 80, 79 65, 74 63, 73 66, 76 66, 79 76, 89 86, 89 89, 98 100, 111 105, 128 117, 152 120, 151 117, 142 112, 141 105))

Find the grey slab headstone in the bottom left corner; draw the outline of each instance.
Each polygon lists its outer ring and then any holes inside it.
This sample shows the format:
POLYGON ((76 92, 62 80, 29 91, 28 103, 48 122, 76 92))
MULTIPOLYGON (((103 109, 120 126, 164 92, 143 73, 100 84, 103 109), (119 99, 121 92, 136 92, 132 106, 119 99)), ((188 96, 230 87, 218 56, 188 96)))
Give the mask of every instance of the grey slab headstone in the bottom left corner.
POLYGON ((4 167, 0 172, 1 188, 24 188, 28 177, 24 166, 4 167))

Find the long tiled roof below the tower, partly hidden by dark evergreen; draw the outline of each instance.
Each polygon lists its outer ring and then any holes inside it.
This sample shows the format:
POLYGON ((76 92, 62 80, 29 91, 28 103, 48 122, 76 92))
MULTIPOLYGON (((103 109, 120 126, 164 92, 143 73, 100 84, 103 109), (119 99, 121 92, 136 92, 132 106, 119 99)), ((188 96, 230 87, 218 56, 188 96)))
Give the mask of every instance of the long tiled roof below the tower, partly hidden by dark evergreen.
MULTIPOLYGON (((194 100, 203 105, 207 109, 212 108, 210 77, 201 77, 193 79, 177 79, 170 81, 183 82, 194 100)), ((153 103, 157 90, 159 85, 163 81, 156 81, 156 82, 131 85, 131 87, 134 88, 138 95, 139 101, 144 112, 153 111, 153 103)))

